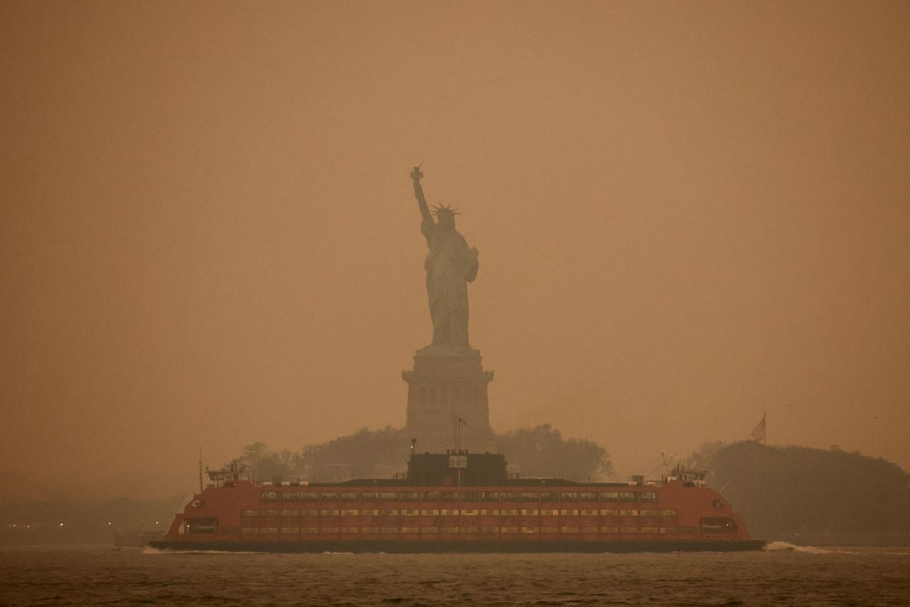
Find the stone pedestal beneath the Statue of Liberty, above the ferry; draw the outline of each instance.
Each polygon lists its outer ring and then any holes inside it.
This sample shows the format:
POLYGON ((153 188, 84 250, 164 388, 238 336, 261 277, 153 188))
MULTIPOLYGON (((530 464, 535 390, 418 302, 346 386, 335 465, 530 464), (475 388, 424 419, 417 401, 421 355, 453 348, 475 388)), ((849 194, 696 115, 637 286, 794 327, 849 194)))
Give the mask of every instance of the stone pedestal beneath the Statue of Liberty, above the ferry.
POLYGON ((461 449, 496 449, 487 398, 493 372, 481 367, 479 350, 428 346, 417 351, 414 369, 401 371, 401 379, 408 384, 406 428, 418 452, 455 449, 459 418, 466 422, 459 429, 461 449))

